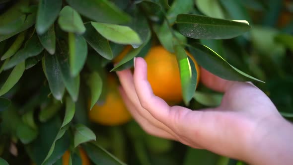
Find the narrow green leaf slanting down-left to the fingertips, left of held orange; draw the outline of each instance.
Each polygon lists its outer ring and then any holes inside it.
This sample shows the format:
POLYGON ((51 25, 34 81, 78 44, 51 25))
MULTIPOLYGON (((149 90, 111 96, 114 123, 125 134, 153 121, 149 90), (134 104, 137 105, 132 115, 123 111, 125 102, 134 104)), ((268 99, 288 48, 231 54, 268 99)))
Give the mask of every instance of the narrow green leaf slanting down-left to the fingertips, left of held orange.
POLYGON ((144 44, 142 44, 139 48, 133 49, 129 53, 127 53, 127 55, 125 55, 125 57, 118 64, 116 64, 116 66, 110 72, 119 71, 120 67, 123 64, 127 63, 128 61, 130 61, 134 57, 136 57, 142 51, 142 49, 147 45, 147 42, 149 39, 150 39, 150 32, 148 33, 148 37, 147 37, 146 42, 144 44))

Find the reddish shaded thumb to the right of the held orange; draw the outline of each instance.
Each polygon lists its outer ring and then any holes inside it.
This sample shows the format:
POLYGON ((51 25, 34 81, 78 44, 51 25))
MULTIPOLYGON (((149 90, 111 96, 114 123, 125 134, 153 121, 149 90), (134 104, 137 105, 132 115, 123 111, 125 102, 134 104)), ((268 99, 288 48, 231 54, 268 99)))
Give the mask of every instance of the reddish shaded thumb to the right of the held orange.
POLYGON ((229 88, 229 86, 234 83, 232 81, 221 79, 218 76, 215 76, 209 71, 205 70, 204 68, 201 68, 200 80, 207 87, 219 92, 225 92, 229 88))

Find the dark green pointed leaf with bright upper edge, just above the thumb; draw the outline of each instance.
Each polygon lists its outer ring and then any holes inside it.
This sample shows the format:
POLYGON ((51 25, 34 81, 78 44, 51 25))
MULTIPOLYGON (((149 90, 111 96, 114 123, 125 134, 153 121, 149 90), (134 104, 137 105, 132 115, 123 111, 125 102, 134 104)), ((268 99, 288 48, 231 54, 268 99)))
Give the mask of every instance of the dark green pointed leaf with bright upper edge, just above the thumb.
POLYGON ((241 82, 258 81, 264 83, 236 69, 207 46, 193 43, 188 47, 190 53, 200 66, 222 79, 241 82))

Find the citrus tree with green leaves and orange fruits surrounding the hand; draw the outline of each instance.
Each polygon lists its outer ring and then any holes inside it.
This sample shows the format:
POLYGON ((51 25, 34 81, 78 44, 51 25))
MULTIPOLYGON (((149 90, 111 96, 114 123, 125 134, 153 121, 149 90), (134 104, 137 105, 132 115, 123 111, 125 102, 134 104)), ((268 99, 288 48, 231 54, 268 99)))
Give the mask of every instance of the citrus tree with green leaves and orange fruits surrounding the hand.
POLYGON ((255 83, 292 120, 292 12, 290 0, 0 0, 0 164, 241 165, 147 135, 115 71, 143 57, 170 105, 217 106, 202 67, 255 83))

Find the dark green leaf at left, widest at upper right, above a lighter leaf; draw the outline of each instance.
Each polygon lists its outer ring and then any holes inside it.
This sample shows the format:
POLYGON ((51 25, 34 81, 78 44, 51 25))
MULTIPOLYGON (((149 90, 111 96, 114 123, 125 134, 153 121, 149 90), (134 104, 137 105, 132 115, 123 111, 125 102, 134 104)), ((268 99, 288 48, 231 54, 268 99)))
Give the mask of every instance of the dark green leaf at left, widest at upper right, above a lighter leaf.
POLYGON ((20 49, 4 66, 4 70, 10 69, 15 65, 23 62, 29 57, 34 57, 44 50, 39 42, 37 35, 33 35, 25 44, 24 48, 20 49))

